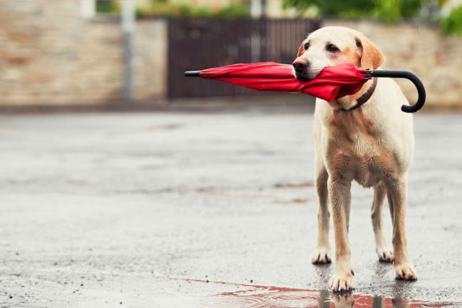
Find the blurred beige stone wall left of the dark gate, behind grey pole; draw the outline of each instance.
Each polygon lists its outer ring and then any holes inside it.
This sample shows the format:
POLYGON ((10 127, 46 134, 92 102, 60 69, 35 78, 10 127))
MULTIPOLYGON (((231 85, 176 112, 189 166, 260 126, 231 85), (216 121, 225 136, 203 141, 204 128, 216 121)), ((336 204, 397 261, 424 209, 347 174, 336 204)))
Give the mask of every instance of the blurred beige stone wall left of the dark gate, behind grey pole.
MULTIPOLYGON (((80 1, 1 1, 0 105, 120 100, 120 24, 101 16, 83 19, 80 12, 80 1)), ((166 91, 166 29, 160 19, 137 25, 133 63, 138 100, 166 91)))

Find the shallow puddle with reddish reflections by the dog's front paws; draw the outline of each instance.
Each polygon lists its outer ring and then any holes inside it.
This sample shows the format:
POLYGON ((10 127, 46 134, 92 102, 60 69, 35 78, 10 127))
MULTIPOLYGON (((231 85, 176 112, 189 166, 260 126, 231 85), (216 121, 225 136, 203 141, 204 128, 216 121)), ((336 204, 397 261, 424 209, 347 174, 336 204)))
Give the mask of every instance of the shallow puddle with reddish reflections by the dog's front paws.
MULTIPOLYGON (((197 280, 196 280, 197 281, 197 280)), ((226 284, 226 282, 216 282, 226 284)), ((332 292, 309 289, 253 286, 240 284, 241 289, 234 292, 222 292, 205 299, 206 307, 242 307, 242 308, 418 308, 418 307, 456 307, 456 302, 423 302, 414 299, 389 299, 369 295, 332 294, 332 292)))

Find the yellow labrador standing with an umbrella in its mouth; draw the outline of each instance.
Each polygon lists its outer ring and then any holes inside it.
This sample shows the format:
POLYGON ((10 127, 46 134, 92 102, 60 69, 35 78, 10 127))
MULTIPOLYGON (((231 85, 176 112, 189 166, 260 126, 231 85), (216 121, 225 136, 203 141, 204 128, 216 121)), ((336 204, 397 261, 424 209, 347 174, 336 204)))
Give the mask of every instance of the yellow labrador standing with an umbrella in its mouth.
MULTIPOLYGON (((314 31, 304 39, 292 63, 299 79, 315 78, 325 66, 354 63, 379 68, 384 61, 379 48, 366 37, 340 26, 314 31)), ((371 217, 376 252, 382 262, 394 262, 396 278, 416 279, 406 244, 407 170, 414 152, 413 122, 401 112, 408 104, 390 78, 364 83, 358 93, 329 103, 317 98, 314 111, 315 182, 319 198, 318 237, 312 262, 331 262, 329 209, 332 205, 335 270, 329 282, 333 291, 351 288, 354 275, 349 248, 351 181, 374 188, 371 217), (393 224, 393 250, 382 232, 381 210, 388 198, 393 224)))

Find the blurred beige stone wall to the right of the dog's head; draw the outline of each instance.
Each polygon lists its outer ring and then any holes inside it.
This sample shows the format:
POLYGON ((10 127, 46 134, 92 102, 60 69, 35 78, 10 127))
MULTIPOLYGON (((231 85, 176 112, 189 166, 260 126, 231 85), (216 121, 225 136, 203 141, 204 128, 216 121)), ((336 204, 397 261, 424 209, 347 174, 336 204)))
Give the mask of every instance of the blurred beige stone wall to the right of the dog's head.
MULTIPOLYGON (((424 83, 428 106, 462 107, 462 37, 441 36, 437 26, 386 25, 376 21, 327 20, 323 26, 347 26, 361 31, 385 55, 383 69, 414 72, 424 83)), ((416 90, 397 80, 410 101, 416 90)))

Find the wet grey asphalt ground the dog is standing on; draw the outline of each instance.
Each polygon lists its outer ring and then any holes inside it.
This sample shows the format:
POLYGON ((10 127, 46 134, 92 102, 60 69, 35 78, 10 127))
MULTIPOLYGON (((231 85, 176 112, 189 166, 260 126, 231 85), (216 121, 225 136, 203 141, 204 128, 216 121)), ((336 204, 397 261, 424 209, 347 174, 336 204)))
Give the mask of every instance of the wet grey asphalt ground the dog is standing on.
MULTIPOLYGON (((372 190, 354 185, 356 305, 462 306, 462 115, 414 120, 419 279, 378 262, 372 190)), ((333 265, 310 263, 312 121, 263 108, 0 116, 0 307, 351 307, 324 291, 333 265)), ((390 235, 386 207, 384 221, 390 235)))

